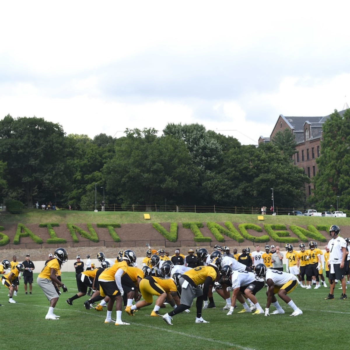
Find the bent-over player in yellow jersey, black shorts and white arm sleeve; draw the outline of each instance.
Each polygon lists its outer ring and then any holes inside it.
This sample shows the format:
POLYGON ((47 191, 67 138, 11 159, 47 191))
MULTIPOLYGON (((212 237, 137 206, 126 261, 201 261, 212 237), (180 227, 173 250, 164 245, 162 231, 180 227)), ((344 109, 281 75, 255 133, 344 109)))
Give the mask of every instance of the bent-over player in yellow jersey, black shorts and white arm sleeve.
POLYGON ((105 269, 98 278, 101 296, 109 296, 107 304, 107 316, 105 323, 114 322, 112 320, 112 310, 116 302, 117 318, 115 325, 129 325, 130 323, 121 320, 121 307, 123 303, 124 289, 121 284, 121 277, 126 273, 128 266, 133 266, 136 262, 136 254, 132 250, 126 250, 123 254, 123 261, 105 269))

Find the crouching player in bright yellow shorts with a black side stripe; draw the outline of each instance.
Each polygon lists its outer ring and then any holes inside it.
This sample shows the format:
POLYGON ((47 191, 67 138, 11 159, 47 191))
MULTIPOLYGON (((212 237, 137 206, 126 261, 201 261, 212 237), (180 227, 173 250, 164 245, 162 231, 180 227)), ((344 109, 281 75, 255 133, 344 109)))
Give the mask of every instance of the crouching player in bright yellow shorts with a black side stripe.
POLYGON ((162 265, 162 273, 167 276, 167 279, 163 279, 155 276, 147 276, 140 282, 140 292, 144 300, 138 301, 130 308, 126 308, 125 311, 128 314, 133 315, 133 311, 141 309, 142 307, 149 306, 153 303, 153 295, 157 295, 158 298, 155 301, 155 306, 151 312, 151 316, 161 316, 159 309, 165 300, 176 308, 176 305, 180 305, 180 299, 177 295, 177 286, 175 281, 170 277, 171 266, 169 264, 162 265))

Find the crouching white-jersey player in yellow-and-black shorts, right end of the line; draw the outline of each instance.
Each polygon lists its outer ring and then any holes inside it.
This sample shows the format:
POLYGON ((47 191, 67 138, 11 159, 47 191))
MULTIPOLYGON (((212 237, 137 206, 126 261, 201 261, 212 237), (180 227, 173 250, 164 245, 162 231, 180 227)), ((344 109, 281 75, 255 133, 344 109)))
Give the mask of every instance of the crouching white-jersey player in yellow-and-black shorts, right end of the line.
POLYGON ((265 308, 265 316, 270 316, 270 305, 272 304, 276 310, 271 314, 284 314, 285 311, 281 308, 278 303, 275 294, 278 296, 293 309, 293 313, 290 316, 299 316, 303 312, 295 305, 292 299, 287 295, 295 289, 297 286, 297 278, 291 273, 266 268, 264 264, 258 264, 254 267, 254 273, 257 278, 264 278, 267 284, 267 303, 265 308))

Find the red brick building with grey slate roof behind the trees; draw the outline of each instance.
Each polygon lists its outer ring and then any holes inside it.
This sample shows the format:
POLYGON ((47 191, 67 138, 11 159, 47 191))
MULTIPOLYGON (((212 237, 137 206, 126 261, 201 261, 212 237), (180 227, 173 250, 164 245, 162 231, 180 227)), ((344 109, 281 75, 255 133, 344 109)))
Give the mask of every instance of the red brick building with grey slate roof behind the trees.
MULTIPOLYGON (((338 113, 342 116, 345 111, 338 113)), ((296 153, 293 156, 294 164, 303 168, 304 173, 312 179, 317 173, 316 159, 321 151, 322 126, 328 118, 329 114, 324 117, 285 117, 280 114, 270 137, 260 136, 259 144, 269 142, 277 132, 289 129, 293 132, 297 143, 296 153)), ((305 184, 306 197, 311 195, 313 188, 312 181, 305 184)))

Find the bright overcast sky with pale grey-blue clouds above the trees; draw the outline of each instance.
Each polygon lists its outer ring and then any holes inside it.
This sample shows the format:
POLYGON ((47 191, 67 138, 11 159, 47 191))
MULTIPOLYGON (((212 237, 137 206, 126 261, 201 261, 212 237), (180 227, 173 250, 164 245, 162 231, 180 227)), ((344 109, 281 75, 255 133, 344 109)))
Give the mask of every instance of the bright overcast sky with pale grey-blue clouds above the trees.
POLYGON ((2 1, 0 10, 0 118, 36 116, 91 138, 199 123, 257 144, 279 114, 350 104, 349 1, 2 1))

